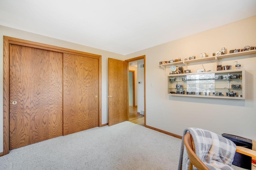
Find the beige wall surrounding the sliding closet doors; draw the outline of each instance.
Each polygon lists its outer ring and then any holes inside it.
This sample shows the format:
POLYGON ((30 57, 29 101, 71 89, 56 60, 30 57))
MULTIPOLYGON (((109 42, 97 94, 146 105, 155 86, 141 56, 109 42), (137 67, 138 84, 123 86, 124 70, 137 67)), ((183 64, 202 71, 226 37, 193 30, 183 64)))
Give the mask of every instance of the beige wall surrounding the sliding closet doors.
MULTIPOLYGON (((100 49, 87 47, 84 45, 78 45, 59 39, 45 37, 42 35, 20 31, 9 27, 0 25, 0 89, 3 89, 3 36, 15 37, 34 41, 38 43, 44 43, 48 45, 54 45, 58 47, 64 47, 68 49, 74 49, 78 51, 84 51, 87 53, 93 53, 102 56, 102 124, 108 123, 108 58, 124 60, 123 55, 116 53, 110 53, 100 49)), ((3 152, 3 93, 0 93, 0 152, 3 152)))

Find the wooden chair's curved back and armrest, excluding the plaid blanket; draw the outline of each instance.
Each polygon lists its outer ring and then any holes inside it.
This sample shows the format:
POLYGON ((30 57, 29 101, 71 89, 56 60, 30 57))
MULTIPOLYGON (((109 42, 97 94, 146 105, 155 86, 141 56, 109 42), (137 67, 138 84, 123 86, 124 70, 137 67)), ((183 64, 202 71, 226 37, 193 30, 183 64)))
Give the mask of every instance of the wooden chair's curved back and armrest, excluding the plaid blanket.
MULTIPOLYGON (((198 170, 209 170, 209 168, 204 164, 204 162, 202 162, 198 158, 198 156, 194 152, 193 139, 190 133, 186 133, 186 135, 184 136, 184 145, 186 147, 188 158, 190 160, 188 170, 193 170, 193 165, 198 168, 198 170)), ((256 151, 248 148, 236 146, 236 152, 251 156, 252 158, 256 158, 256 151)))

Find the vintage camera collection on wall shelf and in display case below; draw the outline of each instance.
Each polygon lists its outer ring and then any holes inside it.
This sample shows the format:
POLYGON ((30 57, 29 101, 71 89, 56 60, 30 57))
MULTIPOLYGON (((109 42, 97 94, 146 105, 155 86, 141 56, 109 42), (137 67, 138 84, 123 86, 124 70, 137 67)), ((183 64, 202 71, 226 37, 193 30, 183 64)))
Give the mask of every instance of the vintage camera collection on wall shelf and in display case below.
MULTIPOLYGON (((218 64, 218 59, 224 59, 229 57, 237 57, 251 53, 241 53, 238 55, 227 55, 228 52, 240 53, 243 51, 256 50, 256 47, 244 46, 242 49, 232 49, 227 51, 225 47, 220 48, 219 51, 212 53, 212 58, 204 60, 203 58, 208 57, 206 53, 200 53, 200 57, 192 55, 190 57, 184 58, 184 61, 180 59, 172 59, 169 61, 161 61, 159 64, 166 64, 160 66, 166 71, 166 66, 170 66, 170 76, 168 76, 168 93, 176 95, 185 96, 196 96, 196 97, 207 97, 207 98, 234 98, 234 99, 245 99, 244 97, 244 83, 245 80, 243 76, 245 74, 244 70, 241 70, 241 64, 235 61, 235 68, 233 64, 218 64), (218 57, 220 55, 226 55, 223 57, 218 57), (199 58, 199 59, 198 59, 199 58), (201 58, 201 59, 200 59, 201 58), (191 61, 195 60, 195 61, 191 61), (202 61, 216 61, 216 70, 204 69, 202 64, 202 69, 190 70, 188 65, 190 63, 198 63, 202 61), (187 61, 187 62, 186 62, 187 61), (178 62, 176 64, 176 62, 178 62), (172 63, 172 64, 167 64, 172 63), (183 65, 185 67, 182 67, 183 65), (185 68, 185 69, 184 69, 185 68), (179 75, 180 74, 180 75, 179 75), (211 97, 214 96, 214 97, 211 97)), ((199 64, 199 63, 198 63, 199 64)), ((207 63, 206 63, 207 64, 207 63)), ((192 64, 194 65, 194 64, 192 64)), ((193 68, 193 67, 192 67, 193 68)))

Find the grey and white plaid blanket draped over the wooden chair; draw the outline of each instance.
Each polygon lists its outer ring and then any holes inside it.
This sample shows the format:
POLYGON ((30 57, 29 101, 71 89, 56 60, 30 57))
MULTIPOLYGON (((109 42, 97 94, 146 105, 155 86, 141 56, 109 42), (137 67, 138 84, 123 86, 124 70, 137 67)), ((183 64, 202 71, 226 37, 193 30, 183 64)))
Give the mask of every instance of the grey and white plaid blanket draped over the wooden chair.
MULTIPOLYGON (((185 129, 183 137, 188 132, 192 135, 196 155, 210 170, 234 170, 230 167, 236 152, 232 141, 199 128, 185 129)), ((178 170, 188 170, 188 166, 188 154, 182 138, 178 170)))

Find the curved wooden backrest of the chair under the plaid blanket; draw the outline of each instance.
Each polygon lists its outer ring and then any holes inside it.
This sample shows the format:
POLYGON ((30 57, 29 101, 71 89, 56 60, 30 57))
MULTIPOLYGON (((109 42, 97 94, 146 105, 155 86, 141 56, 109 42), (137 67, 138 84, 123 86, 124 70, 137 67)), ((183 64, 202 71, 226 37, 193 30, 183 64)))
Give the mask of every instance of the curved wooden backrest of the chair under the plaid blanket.
POLYGON ((193 165, 198 168, 198 170, 210 170, 194 152, 193 139, 190 133, 186 133, 186 135, 184 135, 184 145, 186 147, 188 158, 190 161, 188 170, 193 170, 193 165))

